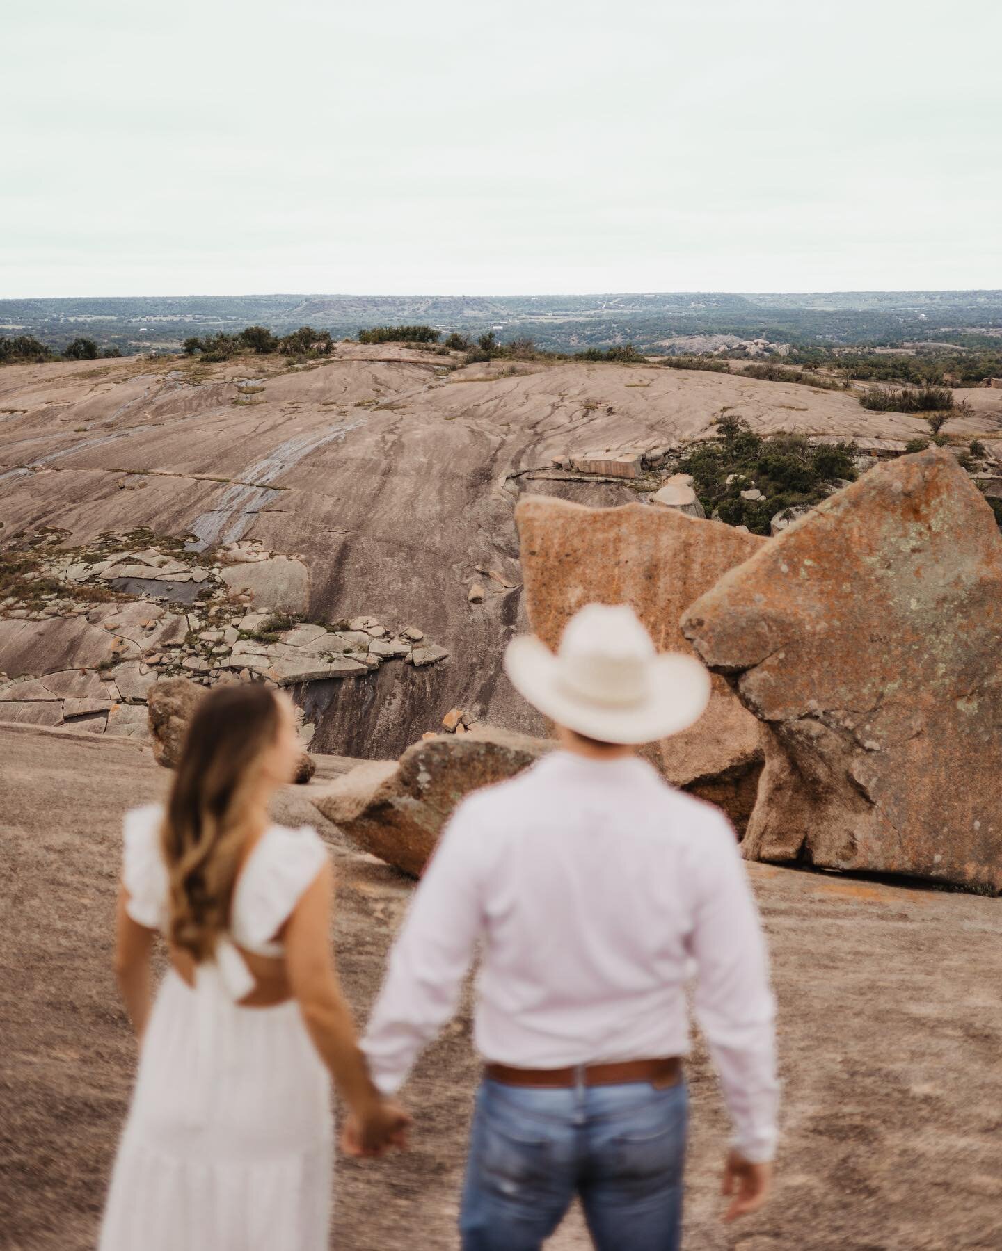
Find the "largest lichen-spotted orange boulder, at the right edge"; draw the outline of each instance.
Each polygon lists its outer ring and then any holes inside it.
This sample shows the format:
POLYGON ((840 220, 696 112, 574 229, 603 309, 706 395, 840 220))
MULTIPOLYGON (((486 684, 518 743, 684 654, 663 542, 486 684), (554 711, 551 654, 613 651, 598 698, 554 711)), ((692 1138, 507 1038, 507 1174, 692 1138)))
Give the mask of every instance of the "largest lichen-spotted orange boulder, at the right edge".
POLYGON ((872 469, 683 629, 768 727, 746 857, 1002 891, 1002 535, 954 457, 872 469))

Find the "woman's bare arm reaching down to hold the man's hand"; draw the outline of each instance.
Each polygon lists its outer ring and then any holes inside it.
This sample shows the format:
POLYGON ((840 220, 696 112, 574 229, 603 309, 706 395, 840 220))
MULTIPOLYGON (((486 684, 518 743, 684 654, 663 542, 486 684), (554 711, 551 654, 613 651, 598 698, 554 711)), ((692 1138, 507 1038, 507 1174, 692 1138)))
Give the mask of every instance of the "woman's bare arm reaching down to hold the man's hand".
POLYGON ((333 871, 328 862, 303 892, 284 927, 286 966, 309 1037, 361 1122, 364 1150, 376 1152, 390 1143, 403 1145, 410 1117, 385 1100, 369 1077, 331 953, 332 904, 333 871))

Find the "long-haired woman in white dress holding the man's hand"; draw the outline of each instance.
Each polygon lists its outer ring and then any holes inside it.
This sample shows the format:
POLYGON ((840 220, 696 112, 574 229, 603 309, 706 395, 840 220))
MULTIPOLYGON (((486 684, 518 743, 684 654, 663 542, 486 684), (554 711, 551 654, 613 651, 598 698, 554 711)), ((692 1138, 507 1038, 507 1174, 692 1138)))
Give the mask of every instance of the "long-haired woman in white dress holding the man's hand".
POLYGON ((364 1152, 403 1145, 332 962, 327 851, 268 821, 298 754, 284 697, 217 687, 165 809, 125 817, 115 962, 140 1061, 100 1251, 326 1251, 331 1076, 364 1152))

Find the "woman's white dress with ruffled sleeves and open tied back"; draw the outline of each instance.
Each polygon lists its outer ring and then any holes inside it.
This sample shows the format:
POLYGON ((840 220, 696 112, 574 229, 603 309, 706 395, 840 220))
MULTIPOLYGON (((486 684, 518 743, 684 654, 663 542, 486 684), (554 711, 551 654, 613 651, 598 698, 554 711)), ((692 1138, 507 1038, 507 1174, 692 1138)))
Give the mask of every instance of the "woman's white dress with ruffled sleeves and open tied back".
MULTIPOLYGON (((164 929, 162 809, 125 817, 128 912, 164 929)), ((317 877, 314 829, 272 826, 233 896, 230 938, 194 990, 172 970, 153 1005, 101 1225, 100 1251, 326 1251, 331 1087, 294 1001, 239 1007, 254 986, 234 942, 263 956, 317 877)))

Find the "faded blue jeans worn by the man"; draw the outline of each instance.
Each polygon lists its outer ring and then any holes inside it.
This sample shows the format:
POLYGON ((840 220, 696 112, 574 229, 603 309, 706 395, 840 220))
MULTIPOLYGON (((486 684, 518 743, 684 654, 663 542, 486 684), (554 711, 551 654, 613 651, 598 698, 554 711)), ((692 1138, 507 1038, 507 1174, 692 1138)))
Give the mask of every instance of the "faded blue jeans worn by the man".
POLYGON ((580 1195, 599 1251, 678 1251, 684 1082, 477 1093, 460 1212, 463 1251, 536 1251, 580 1195))

